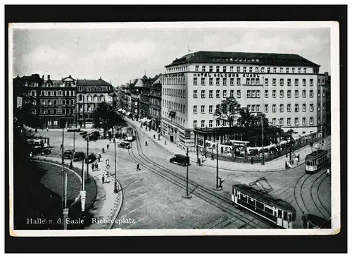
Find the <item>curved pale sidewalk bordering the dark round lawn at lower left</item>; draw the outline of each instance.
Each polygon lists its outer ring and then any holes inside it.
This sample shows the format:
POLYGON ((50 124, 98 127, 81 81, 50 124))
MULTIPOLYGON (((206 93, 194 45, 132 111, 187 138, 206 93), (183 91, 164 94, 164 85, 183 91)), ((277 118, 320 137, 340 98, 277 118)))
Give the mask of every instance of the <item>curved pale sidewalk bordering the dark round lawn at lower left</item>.
MULTIPOLYGON (((44 160, 44 158, 41 158, 44 160)), ((46 161, 61 162, 61 158, 48 157, 46 161)), ((70 159, 65 159, 65 164, 70 165, 70 159)), ((73 167, 82 171, 82 163, 74 162, 73 167)), ((103 183, 101 177, 106 175, 106 171, 98 168, 98 170, 92 171, 92 164, 89 164, 89 178, 94 178, 96 181, 96 199, 94 201, 94 207, 92 209, 93 218, 92 224, 85 227, 84 229, 111 229, 113 223, 111 220, 115 220, 122 206, 122 191, 120 183, 117 181, 118 193, 114 192, 114 180, 113 176, 109 176, 110 183, 103 183)), ((84 164, 84 169, 87 169, 87 165, 84 164)), ((84 171, 86 172, 86 171, 84 171)), ((86 174, 86 173, 84 173, 86 174)), ((87 178, 85 178, 87 179, 87 178)), ((106 182, 106 180, 105 180, 106 182)))

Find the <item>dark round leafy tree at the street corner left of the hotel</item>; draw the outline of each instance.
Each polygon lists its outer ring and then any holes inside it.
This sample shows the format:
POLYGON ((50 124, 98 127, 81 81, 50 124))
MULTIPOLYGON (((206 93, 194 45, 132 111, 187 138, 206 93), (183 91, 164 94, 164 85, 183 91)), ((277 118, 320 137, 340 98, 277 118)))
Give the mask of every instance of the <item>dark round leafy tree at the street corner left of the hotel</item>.
POLYGON ((92 113, 94 128, 103 128, 104 135, 113 128, 114 125, 121 123, 122 118, 116 113, 111 104, 101 102, 92 113))

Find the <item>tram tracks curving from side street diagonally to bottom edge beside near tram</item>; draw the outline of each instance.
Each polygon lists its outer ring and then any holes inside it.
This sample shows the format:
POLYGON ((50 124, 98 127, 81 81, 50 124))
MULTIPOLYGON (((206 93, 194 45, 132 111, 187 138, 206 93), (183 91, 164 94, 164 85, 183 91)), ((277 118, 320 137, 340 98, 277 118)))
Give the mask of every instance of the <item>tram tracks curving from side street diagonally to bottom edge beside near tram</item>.
MULTIPOLYGON (((143 152, 141 141, 137 133, 136 138, 137 155, 139 156, 136 155, 136 152, 134 151, 132 145, 132 148, 129 149, 129 155, 131 156, 131 158, 134 161, 142 164, 142 166, 146 167, 152 173, 155 173, 156 175, 161 176, 165 180, 168 180, 170 183, 177 185, 183 190, 186 190, 186 178, 184 178, 184 176, 179 175, 178 173, 175 173, 174 171, 171 171, 169 168, 165 168, 164 166, 161 166, 155 161, 149 159, 149 157, 146 156, 143 152)), ((213 192, 212 190, 209 190, 208 188, 205 188, 192 180, 189 180, 189 186, 192 195, 196 195, 200 199, 203 199, 203 201, 208 202, 208 204, 211 204, 213 207, 217 207, 218 209, 224 211, 226 214, 234 217, 238 221, 241 221, 241 223, 246 223, 252 228, 266 228, 260 225, 259 223, 254 222, 254 220, 258 220, 262 223, 265 223, 265 225, 270 225, 268 228, 272 227, 272 225, 269 224, 268 221, 256 218, 255 216, 253 216, 253 214, 250 214, 249 212, 247 213, 245 211, 234 211, 232 202, 227 197, 219 195, 218 193, 213 192), (249 214, 251 216, 250 219, 244 218, 244 214, 249 214)))

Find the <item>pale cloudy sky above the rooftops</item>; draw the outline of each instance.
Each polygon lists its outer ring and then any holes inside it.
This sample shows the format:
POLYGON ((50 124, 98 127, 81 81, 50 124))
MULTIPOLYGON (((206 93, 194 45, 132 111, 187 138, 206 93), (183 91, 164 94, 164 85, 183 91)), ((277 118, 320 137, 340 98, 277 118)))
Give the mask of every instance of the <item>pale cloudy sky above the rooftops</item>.
POLYGON ((329 35, 329 28, 14 29, 13 77, 101 77, 118 86, 163 73, 188 49, 298 54, 320 65, 320 73, 330 73, 329 35))

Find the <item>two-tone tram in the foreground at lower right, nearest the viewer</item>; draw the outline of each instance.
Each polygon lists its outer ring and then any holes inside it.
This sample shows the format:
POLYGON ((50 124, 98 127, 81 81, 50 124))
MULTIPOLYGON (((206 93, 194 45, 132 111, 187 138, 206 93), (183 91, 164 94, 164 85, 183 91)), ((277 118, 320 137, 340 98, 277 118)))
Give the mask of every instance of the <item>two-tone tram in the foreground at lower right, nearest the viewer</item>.
POLYGON ((296 209, 289 202, 249 185, 232 185, 232 202, 235 207, 247 209, 280 228, 293 228, 296 220, 296 209))

